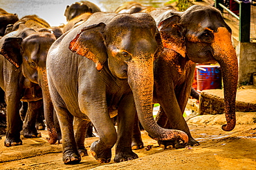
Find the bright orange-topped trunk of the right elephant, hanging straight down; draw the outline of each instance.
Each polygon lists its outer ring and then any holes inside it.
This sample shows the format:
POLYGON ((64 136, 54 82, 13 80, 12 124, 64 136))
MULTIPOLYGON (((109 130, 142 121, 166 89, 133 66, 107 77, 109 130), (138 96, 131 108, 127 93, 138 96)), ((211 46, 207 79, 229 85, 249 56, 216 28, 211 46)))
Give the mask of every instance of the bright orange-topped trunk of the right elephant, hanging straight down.
POLYGON ((237 94, 238 81, 238 63, 237 54, 232 46, 231 34, 226 28, 219 28, 214 34, 214 49, 216 56, 214 58, 221 65, 224 88, 224 112, 227 124, 222 125, 224 131, 231 131, 235 128, 235 100, 237 94))

